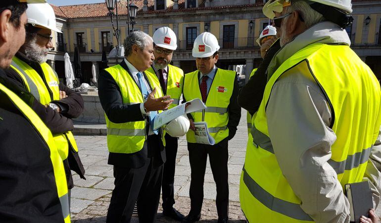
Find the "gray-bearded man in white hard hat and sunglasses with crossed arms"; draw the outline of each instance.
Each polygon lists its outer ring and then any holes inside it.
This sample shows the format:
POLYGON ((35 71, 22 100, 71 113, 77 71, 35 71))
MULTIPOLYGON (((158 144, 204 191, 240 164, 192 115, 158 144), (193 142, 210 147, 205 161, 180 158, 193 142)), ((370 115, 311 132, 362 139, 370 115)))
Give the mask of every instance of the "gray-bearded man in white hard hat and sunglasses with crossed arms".
POLYGON ((33 94, 41 104, 55 111, 52 116, 43 114, 43 120, 54 133, 54 140, 64 163, 70 202, 70 189, 74 187, 70 170, 76 171, 85 179, 85 169, 79 158, 74 136, 65 125, 67 119, 61 118, 59 114, 67 118, 78 117, 84 109, 83 100, 78 93, 58 81, 57 74, 46 62, 48 51, 53 47, 51 32, 61 32, 55 26, 53 8, 48 3, 32 3, 28 5, 26 14, 28 24, 25 43, 13 57, 6 73, 20 87, 33 94))

